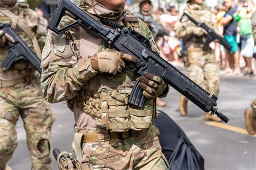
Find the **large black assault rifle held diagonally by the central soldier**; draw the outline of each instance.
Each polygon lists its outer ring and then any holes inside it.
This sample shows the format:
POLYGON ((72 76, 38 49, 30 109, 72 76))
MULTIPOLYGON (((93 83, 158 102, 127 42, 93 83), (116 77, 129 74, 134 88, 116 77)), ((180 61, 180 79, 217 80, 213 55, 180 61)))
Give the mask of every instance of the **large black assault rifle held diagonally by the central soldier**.
MULTIPOLYGON (((228 118, 217 111, 218 108, 216 108, 216 106, 218 97, 215 95, 210 97, 210 94, 207 93, 207 91, 199 87, 178 69, 162 59, 158 53, 152 51, 149 40, 145 37, 136 31, 131 31, 127 27, 113 29, 104 26, 69 0, 60 1, 48 28, 57 34, 60 34, 77 25, 83 26, 118 51, 136 56, 136 72, 140 75, 151 73, 162 77, 166 83, 179 91, 179 93, 183 94, 199 108, 205 112, 211 111, 212 115, 215 114, 224 122, 228 122, 228 118), (64 15, 73 18, 75 22, 59 28, 59 22, 64 15)), ((145 97, 143 96, 139 84, 140 81, 138 79, 132 89, 129 103, 136 105, 137 107, 142 107, 145 102, 145 97)))

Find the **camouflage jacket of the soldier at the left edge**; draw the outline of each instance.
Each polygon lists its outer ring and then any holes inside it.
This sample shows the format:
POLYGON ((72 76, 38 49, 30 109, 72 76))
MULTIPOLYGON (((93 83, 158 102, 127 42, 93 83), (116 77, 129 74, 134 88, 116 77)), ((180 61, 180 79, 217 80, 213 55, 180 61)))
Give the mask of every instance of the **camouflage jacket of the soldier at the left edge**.
MULTIPOLYGON (((21 39, 36 53, 35 46, 32 42, 32 37, 36 36, 38 41, 39 48, 41 51, 45 44, 45 38, 47 34, 46 24, 44 19, 39 17, 37 13, 29 9, 28 4, 17 4, 16 7, 11 11, 12 15, 17 16, 18 22, 24 23, 28 26, 33 33, 33 35, 28 35, 25 31, 19 27, 17 23, 14 23, 14 17, 11 15, 5 15, 5 12, 0 9, 0 22, 4 24, 10 24, 12 27, 15 27, 16 33, 21 37, 21 39)), ((11 66, 10 69, 6 70, 2 67, 2 62, 8 56, 9 47, 7 45, 0 47, 0 80, 10 81, 19 79, 26 75, 31 74, 35 69, 32 65, 27 62, 21 61, 16 62, 11 66)))

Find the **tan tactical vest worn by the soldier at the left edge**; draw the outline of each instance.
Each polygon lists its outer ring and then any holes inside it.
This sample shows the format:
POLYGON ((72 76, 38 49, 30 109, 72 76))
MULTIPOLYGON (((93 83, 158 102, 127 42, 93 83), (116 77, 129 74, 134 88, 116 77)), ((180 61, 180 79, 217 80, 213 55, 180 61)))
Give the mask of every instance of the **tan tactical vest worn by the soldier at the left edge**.
MULTIPOLYGON (((27 4, 18 4, 17 11, 18 16, 9 10, 0 10, 0 22, 4 24, 10 24, 12 26, 12 29, 15 30, 15 32, 25 42, 25 44, 28 45, 32 49, 32 51, 35 52, 39 57, 41 57, 41 51, 38 45, 37 38, 35 36, 38 22, 31 22, 31 18, 35 16, 33 16, 33 14, 29 11, 29 6, 27 4), (19 25, 19 23, 22 23, 22 27, 19 25)), ((8 53, 8 46, 4 46, 3 49, 0 50, 0 72, 4 70, 4 68, 2 67, 2 62, 4 61, 8 53)), ((24 61, 20 61, 14 63, 14 65, 12 65, 10 69, 23 70, 32 68, 32 65, 24 61)))

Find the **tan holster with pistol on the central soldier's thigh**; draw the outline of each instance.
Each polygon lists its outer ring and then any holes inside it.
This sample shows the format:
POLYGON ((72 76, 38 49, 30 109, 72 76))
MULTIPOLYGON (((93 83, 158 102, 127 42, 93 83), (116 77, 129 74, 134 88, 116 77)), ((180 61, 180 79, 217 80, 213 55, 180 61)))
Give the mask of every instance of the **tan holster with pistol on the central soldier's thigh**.
POLYGON ((58 149, 54 149, 52 153, 55 159, 57 160, 59 169, 93 170, 93 166, 91 164, 82 164, 78 160, 73 159, 71 153, 60 153, 58 149))

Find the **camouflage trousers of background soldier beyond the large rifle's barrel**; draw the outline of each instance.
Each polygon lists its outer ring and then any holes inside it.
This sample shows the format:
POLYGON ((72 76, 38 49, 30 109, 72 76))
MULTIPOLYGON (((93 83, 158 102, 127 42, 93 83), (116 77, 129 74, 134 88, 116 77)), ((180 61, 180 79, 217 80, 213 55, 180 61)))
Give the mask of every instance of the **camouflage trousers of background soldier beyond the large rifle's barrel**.
POLYGON ((192 81, 205 88, 210 94, 218 96, 220 86, 220 67, 213 53, 197 51, 188 53, 188 74, 192 81))

